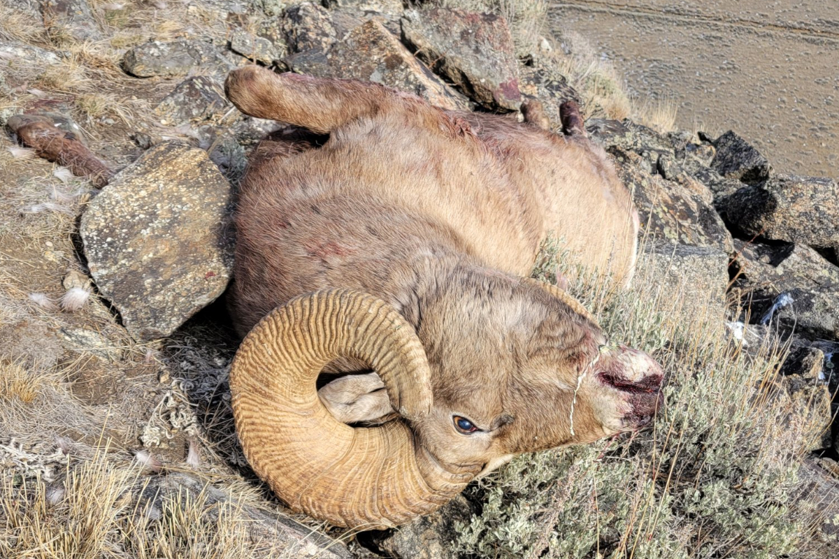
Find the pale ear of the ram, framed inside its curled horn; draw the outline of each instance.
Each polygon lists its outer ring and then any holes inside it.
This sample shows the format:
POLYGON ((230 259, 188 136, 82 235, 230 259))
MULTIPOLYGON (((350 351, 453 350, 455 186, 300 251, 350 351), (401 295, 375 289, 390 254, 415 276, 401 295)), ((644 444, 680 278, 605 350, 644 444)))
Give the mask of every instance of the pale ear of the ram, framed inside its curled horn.
POLYGON ((317 391, 320 401, 339 422, 379 422, 395 413, 376 373, 347 375, 317 391))

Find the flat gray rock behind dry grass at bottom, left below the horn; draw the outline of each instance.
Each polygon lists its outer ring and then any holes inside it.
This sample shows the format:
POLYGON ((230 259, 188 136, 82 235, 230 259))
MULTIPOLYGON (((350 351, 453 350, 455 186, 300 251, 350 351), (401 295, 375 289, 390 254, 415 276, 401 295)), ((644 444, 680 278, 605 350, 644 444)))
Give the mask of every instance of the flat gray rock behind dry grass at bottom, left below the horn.
POLYGON ((149 477, 137 496, 135 510, 145 519, 154 521, 164 514, 166 508, 199 499, 206 503, 206 514, 211 515, 210 518, 218 515, 219 505, 235 504, 236 514, 241 516, 242 525, 247 526, 248 543, 258 546, 268 556, 352 559, 347 547, 340 541, 322 536, 287 516, 239 503, 235 495, 183 472, 149 477))

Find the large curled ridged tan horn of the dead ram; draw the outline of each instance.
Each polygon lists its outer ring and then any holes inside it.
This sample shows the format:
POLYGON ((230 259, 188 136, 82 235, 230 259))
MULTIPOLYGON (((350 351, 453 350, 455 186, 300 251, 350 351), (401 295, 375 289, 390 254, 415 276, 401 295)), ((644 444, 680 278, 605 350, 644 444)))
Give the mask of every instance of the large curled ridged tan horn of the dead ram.
POLYGON ((429 514, 473 473, 451 473, 403 420, 350 427, 320 403, 315 380, 339 357, 365 361, 408 420, 430 410, 430 372, 414 329, 388 303, 329 290, 274 309, 242 342, 230 371, 245 456, 293 510, 373 529, 429 514))

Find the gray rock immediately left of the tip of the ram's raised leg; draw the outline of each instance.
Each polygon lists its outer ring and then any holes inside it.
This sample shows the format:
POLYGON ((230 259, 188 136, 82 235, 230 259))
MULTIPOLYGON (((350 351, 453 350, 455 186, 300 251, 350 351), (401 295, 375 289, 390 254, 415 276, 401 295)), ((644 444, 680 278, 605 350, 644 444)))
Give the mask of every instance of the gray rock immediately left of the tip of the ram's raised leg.
POLYGON ((199 75, 180 82, 154 111, 161 116, 161 124, 175 125, 187 121, 219 121, 231 108, 222 85, 209 76, 199 75))

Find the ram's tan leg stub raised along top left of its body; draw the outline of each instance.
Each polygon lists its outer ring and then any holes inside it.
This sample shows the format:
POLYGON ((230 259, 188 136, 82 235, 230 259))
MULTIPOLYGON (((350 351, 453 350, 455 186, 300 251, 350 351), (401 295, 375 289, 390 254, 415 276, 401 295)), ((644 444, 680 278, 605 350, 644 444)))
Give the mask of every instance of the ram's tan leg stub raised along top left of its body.
POLYGON ((381 85, 330 80, 245 66, 227 75, 227 98, 246 115, 288 122, 326 134, 372 114, 388 100, 381 85))

